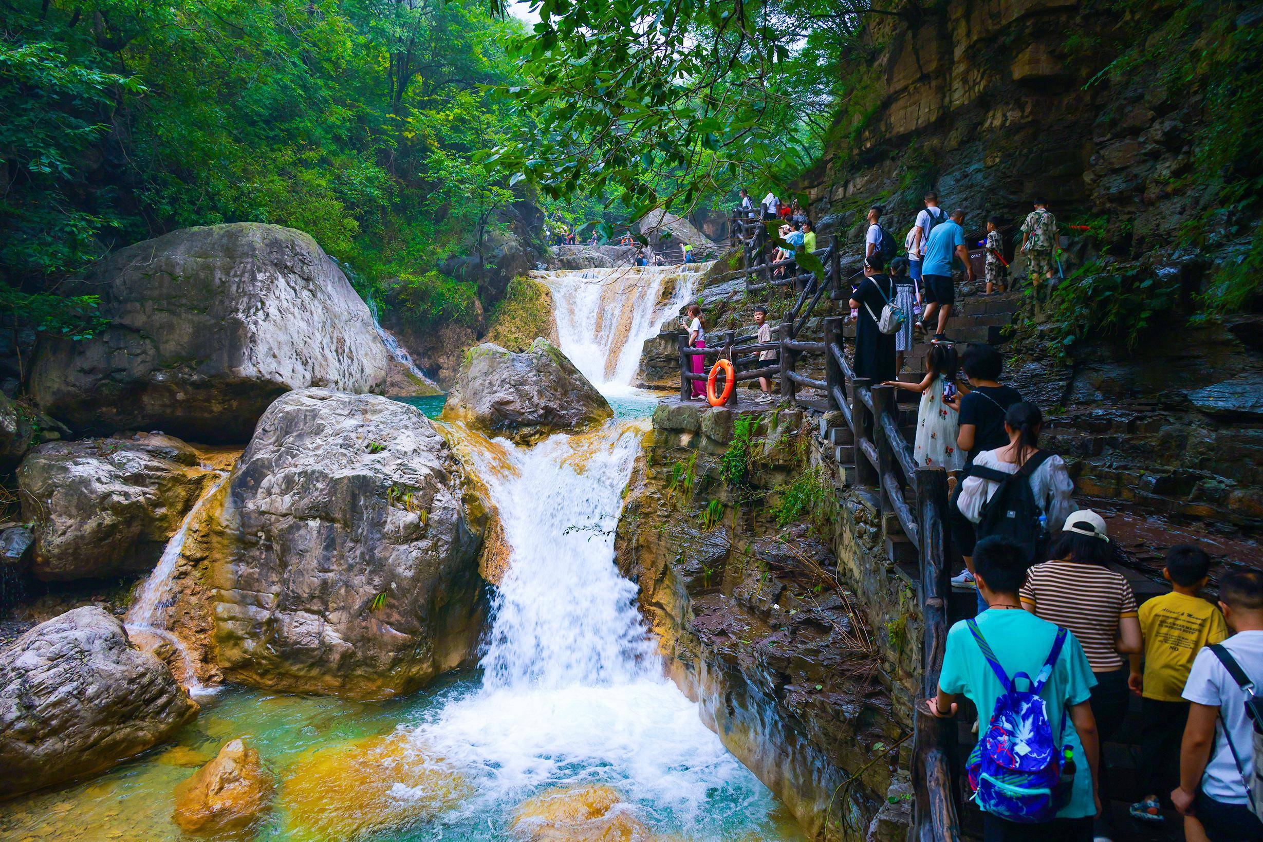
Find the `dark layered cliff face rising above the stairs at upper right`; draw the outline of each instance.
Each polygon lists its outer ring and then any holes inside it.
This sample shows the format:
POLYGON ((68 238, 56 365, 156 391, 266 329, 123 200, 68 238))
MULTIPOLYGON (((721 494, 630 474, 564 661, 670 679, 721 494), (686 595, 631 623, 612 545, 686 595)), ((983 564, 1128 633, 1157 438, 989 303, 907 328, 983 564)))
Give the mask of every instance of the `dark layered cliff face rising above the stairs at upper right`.
MULTIPOLYGON (((1047 197, 1070 235, 1066 279, 1015 318, 1007 380, 1051 414, 1081 494, 1254 533, 1263 317, 1249 300, 1187 317, 1258 250, 1253 199, 1225 198, 1254 177, 1233 172, 1240 160, 1207 169, 1231 115, 1206 57, 1239 43, 1263 9, 1159 9, 962 0, 912 23, 882 18, 869 33, 877 61, 856 72, 856 102, 803 188, 822 232, 855 251, 869 206, 885 207, 902 241, 933 188, 943 207, 965 208, 971 240, 1004 217, 1012 252, 1031 199, 1047 197), (1132 61, 1137 39, 1152 61, 1106 69, 1132 61), (1118 324, 1128 329, 1111 335, 1118 324)), ((1245 167, 1257 173, 1257 160, 1245 167)), ((1026 275, 1022 255, 1014 274, 1026 275)))

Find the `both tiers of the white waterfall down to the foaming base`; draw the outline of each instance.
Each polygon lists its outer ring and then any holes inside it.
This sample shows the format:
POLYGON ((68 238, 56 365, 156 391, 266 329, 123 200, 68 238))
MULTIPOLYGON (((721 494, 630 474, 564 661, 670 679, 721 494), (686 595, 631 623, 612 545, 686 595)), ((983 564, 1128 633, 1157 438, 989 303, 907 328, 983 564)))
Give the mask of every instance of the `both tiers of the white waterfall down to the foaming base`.
POLYGON ((624 406, 638 403, 640 418, 554 434, 534 447, 450 428, 488 486, 510 553, 481 687, 408 730, 477 792, 450 818, 456 824, 484 822, 506 807, 512 813, 541 788, 585 784, 614 786, 657 831, 690 839, 746 838, 770 822, 768 790, 666 678, 637 586, 614 564, 623 491, 655 403, 630 389, 640 346, 693 294, 697 274, 633 271, 632 282, 606 270, 546 275, 562 350, 604 393, 618 394, 624 406))

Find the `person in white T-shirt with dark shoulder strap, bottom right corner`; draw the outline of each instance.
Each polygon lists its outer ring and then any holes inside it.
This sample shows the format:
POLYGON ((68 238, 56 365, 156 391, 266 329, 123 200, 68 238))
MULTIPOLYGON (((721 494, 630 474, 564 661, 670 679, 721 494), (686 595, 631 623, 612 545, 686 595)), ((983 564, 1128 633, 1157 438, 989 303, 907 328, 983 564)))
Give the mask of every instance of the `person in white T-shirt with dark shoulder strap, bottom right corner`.
POLYGON ((1263 699, 1254 698, 1263 680, 1263 572, 1225 576, 1219 607, 1235 634, 1197 653, 1183 689, 1188 725, 1171 803, 1190 842, 1263 839, 1263 699))

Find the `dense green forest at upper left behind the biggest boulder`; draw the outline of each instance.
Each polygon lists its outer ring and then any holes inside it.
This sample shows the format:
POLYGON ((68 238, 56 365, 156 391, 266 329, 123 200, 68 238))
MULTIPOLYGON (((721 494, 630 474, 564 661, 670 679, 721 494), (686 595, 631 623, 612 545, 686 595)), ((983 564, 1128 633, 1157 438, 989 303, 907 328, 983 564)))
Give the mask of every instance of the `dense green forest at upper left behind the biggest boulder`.
POLYGON ((4 5, 0 278, 21 293, 3 305, 37 327, 56 299, 29 297, 109 249, 220 221, 308 231, 364 284, 451 292, 427 273, 512 199, 474 157, 522 127, 488 92, 520 24, 485 4, 4 5))

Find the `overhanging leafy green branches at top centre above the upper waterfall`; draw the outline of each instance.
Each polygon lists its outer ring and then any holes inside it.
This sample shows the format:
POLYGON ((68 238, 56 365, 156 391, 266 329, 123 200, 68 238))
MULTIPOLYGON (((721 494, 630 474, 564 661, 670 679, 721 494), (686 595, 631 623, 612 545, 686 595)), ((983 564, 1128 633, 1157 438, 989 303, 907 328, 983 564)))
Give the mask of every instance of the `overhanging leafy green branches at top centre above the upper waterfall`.
POLYGON ((542 130, 493 157, 551 197, 639 216, 787 184, 821 151, 865 0, 543 0, 508 92, 542 130))

